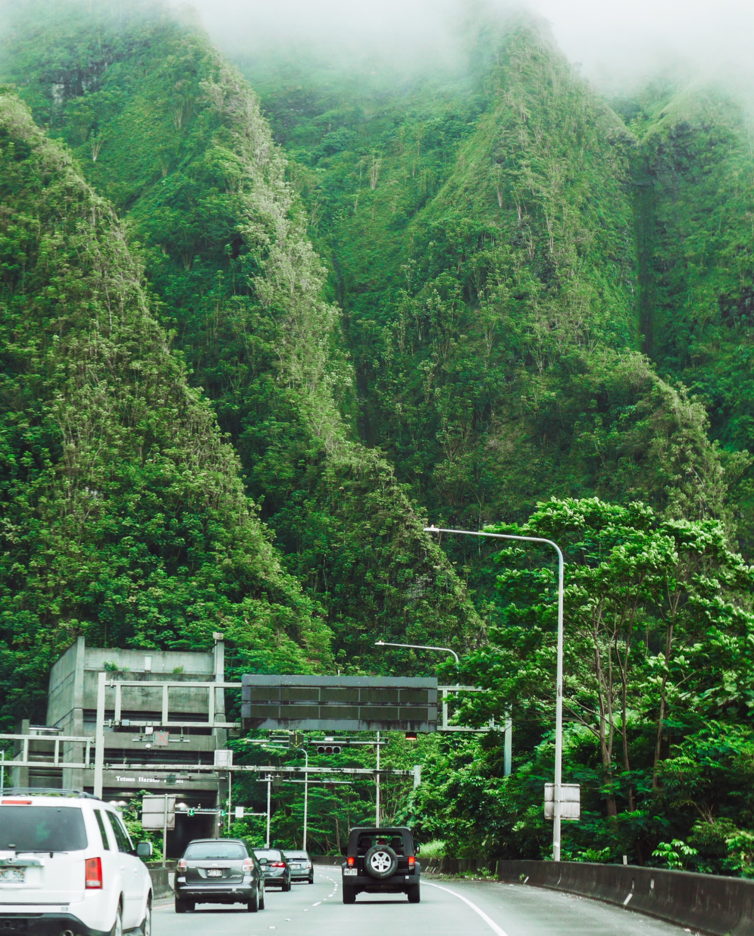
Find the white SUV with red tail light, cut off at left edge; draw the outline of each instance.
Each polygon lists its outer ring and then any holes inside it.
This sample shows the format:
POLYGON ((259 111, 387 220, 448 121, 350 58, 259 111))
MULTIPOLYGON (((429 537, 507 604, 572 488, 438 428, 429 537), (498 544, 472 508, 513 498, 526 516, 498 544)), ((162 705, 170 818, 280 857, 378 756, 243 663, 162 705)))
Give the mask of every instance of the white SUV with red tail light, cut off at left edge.
MULTIPOLYGON (((52 791, 49 791, 52 794, 52 791)), ((0 932, 5 936, 151 936, 152 879, 123 820, 86 794, 0 799, 0 932)))

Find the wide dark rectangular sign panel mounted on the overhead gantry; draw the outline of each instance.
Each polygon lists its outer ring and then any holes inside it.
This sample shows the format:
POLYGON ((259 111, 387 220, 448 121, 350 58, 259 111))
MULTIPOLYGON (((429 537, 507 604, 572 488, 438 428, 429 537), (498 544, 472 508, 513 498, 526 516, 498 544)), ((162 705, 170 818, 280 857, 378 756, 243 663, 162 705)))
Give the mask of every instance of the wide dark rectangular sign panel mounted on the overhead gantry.
POLYGON ((436 731, 437 680, 367 676, 242 679, 244 728, 436 731))

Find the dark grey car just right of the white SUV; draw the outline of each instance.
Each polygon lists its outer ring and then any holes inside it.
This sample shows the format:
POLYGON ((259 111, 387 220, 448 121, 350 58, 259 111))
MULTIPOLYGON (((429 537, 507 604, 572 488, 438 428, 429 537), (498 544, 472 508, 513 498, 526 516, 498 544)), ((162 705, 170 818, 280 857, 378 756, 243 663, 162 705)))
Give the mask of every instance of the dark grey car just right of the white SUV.
POLYGON ((251 914, 264 910, 264 874, 254 849, 243 839, 189 842, 175 873, 175 912, 198 903, 245 903, 251 914))

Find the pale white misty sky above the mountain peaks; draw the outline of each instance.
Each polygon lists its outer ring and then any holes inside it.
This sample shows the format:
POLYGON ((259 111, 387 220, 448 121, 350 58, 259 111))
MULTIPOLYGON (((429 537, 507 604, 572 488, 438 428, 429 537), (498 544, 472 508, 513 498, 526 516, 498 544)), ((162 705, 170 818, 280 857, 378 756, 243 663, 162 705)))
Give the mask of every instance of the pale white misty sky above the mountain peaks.
MULTIPOLYGON (((460 0, 193 0, 230 54, 277 45, 409 64, 449 54, 460 0)), ((513 6, 509 0, 491 5, 513 6)), ((584 75, 606 90, 664 67, 752 71, 754 0, 527 0, 584 75)), ((748 80, 748 78, 747 78, 748 80)))

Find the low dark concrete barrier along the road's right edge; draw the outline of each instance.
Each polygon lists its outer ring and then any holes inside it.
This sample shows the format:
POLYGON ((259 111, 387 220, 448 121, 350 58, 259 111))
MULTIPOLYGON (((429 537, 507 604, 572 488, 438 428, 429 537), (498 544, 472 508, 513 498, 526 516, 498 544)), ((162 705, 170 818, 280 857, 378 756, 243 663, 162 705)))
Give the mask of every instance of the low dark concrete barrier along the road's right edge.
POLYGON ((605 900, 713 936, 754 932, 754 881, 580 861, 498 861, 497 877, 605 900))

